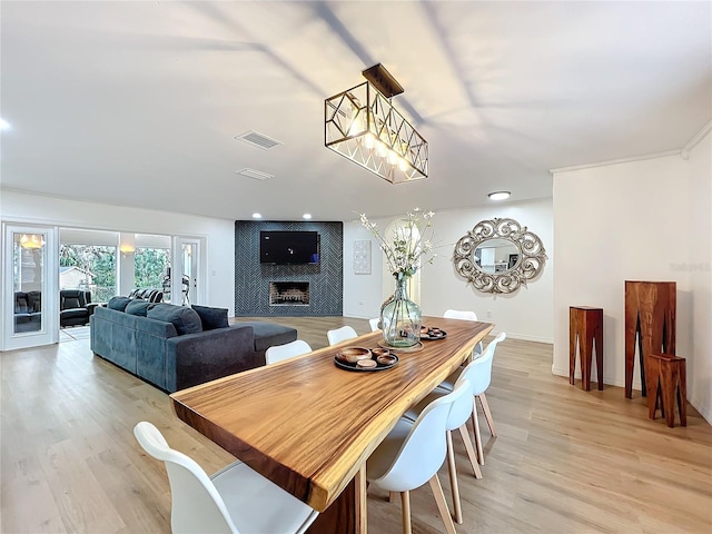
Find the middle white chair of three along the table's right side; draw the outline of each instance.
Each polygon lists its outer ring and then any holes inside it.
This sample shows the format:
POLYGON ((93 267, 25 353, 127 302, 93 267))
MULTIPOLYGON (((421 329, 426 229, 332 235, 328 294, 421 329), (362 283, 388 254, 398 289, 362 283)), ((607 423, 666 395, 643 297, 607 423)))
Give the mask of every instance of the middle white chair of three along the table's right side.
MULTIPOLYGON (((461 382, 467 382, 468 394, 459 397, 456 402, 453 403, 451 407, 449 415, 447 417, 447 427, 445 432, 446 443, 447 443, 447 472, 449 474, 449 487, 453 495, 453 512, 455 515, 455 521, 459 524, 463 523, 463 512, 462 504, 459 501, 459 485, 457 484, 457 471, 455 468, 455 449, 453 447, 453 431, 459 431, 459 435, 465 445, 465 452, 467 453, 467 458, 469 459, 469 464, 472 465, 473 473, 475 478, 482 478, 482 471, 479 469, 479 463, 477 461, 477 454, 475 453, 475 448, 473 447, 472 439, 469 438, 469 433, 467 431, 467 419, 469 419, 473 411, 474 403, 472 400, 472 384, 467 380, 468 375, 475 373, 475 363, 472 362, 467 365, 467 367, 463 370, 459 378, 455 383, 455 388, 464 387, 461 386, 461 382)), ((441 398, 447 395, 447 393, 443 389, 435 389, 428 395, 426 395, 419 403, 415 406, 411 407, 404 415, 404 417, 411 421, 417 421, 423 411, 435 399, 441 398)))

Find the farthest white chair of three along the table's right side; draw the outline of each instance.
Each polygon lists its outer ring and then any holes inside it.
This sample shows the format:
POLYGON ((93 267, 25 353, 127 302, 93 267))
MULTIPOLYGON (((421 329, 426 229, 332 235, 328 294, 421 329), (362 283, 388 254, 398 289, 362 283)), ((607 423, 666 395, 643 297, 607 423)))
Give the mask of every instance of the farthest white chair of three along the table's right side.
MULTIPOLYGON (((482 435, 479 434, 479 421, 477 417, 477 403, 476 399, 479 399, 479 404, 482 405, 482 411, 485 414, 485 419, 487 422, 487 426, 490 427, 490 433, 493 437, 497 436, 497 432, 494 428, 494 419, 492 418, 492 412, 490 412, 490 405, 487 404, 487 397, 485 396, 485 390, 490 387, 490 383, 492 382, 492 363, 494 359, 494 353, 497 348, 497 345, 502 343, 507 335, 502 332, 497 337, 495 337, 487 347, 484 349, 482 355, 472 360, 472 364, 475 364, 473 369, 467 374, 467 379, 472 383, 472 393, 474 395, 473 398, 473 411, 472 411, 472 425, 475 432, 475 445, 477 447, 477 458, 479 459, 479 465, 485 465, 485 455, 482 449, 482 435)), ((443 392, 452 392, 455 387, 455 383, 457 378, 459 378, 461 374, 464 373, 464 369, 467 367, 461 367, 456 369, 452 375, 449 375, 445 380, 443 380, 436 389, 441 389, 443 392)))

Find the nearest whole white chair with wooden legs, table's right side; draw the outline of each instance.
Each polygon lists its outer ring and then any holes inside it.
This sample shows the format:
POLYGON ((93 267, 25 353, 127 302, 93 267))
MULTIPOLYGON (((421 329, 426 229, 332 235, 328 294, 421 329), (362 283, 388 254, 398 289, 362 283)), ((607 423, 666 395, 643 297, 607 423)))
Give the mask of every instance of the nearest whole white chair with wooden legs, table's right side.
POLYGON ((468 398, 472 386, 464 379, 455 389, 428 404, 415 422, 400 417, 366 462, 372 486, 400 494, 403 532, 411 534, 411 491, 429 482, 445 530, 455 534, 437 471, 445 461, 445 428, 453 403, 468 398))

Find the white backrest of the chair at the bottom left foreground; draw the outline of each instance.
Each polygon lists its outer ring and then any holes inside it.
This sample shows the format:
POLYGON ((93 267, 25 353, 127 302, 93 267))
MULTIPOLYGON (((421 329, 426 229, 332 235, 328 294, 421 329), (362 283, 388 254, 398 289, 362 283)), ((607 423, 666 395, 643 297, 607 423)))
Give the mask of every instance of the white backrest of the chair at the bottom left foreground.
POLYGON ((160 431, 146 421, 134 427, 134 435, 149 455, 166 464, 174 534, 238 532, 212 481, 192 458, 170 448, 160 431))

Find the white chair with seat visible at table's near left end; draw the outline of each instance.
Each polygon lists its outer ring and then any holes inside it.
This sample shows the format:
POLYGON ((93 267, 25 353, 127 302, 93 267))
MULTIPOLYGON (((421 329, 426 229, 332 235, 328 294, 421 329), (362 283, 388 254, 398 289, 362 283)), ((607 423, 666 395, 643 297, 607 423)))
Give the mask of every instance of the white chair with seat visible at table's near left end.
POLYGON ((150 456, 166 464, 175 534, 300 534, 318 515, 241 462, 208 477, 192 458, 170 448, 151 423, 137 424, 134 435, 150 456))

